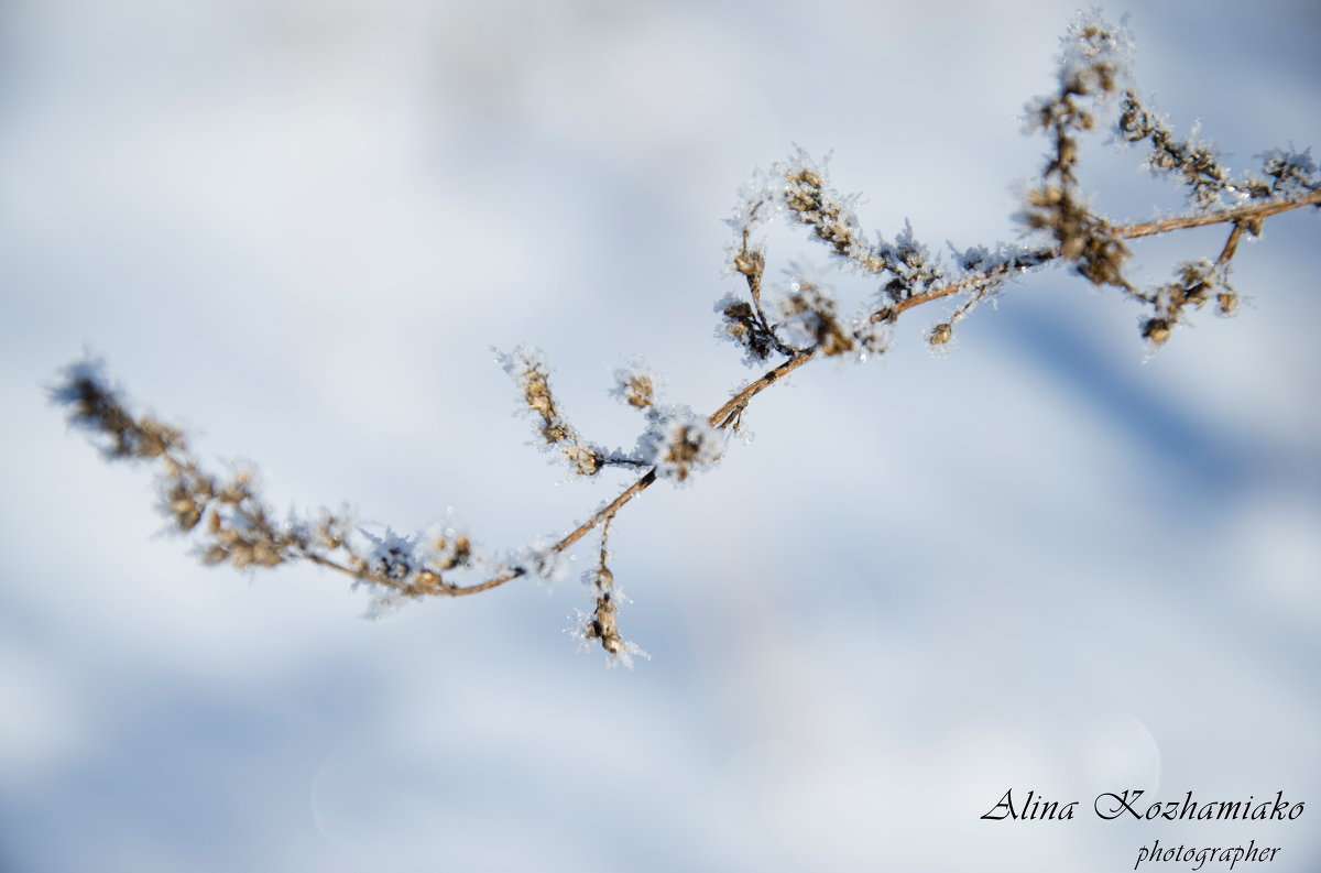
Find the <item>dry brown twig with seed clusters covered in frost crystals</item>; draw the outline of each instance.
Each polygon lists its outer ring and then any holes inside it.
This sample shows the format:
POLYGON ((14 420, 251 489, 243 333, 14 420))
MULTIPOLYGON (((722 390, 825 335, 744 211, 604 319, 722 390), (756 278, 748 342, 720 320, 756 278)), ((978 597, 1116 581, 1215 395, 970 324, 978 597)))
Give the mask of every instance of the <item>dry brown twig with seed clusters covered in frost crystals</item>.
POLYGON ((1259 235, 1264 222, 1281 213, 1321 206, 1321 177, 1308 151, 1269 149, 1258 156, 1258 170, 1235 174, 1198 132, 1180 139, 1137 96, 1129 73, 1132 44, 1122 29, 1081 16, 1063 42, 1057 90, 1028 104, 1028 132, 1044 135, 1049 152, 1026 186, 1017 217, 1026 236, 1022 243, 952 250, 946 262, 906 222, 892 239, 868 234, 857 217, 859 198, 835 190, 826 164, 799 151, 757 173, 741 190, 729 221, 734 236, 728 267, 742 281, 740 291, 716 302, 716 333, 738 346, 744 362, 761 375, 717 409, 703 416, 664 400, 655 374, 633 363, 616 371, 612 394, 639 416, 638 436, 630 448, 608 449, 572 425, 539 351, 519 347, 499 355, 536 444, 571 474, 600 478, 610 468, 642 470, 563 536, 494 553, 453 518, 410 535, 366 530, 346 510, 277 518, 250 470, 217 475, 205 469, 178 428, 133 413, 99 363, 67 367, 52 398, 67 407, 70 421, 91 435, 107 460, 155 465, 160 508, 177 531, 193 538, 203 563, 251 572, 308 561, 371 589, 373 613, 420 597, 473 594, 524 576, 560 577, 568 552, 598 530, 596 567, 584 575, 593 609, 580 613, 575 634, 601 646, 612 664, 630 664, 633 655, 645 652, 620 631, 620 606, 627 601, 608 565, 612 523, 657 481, 682 486, 715 466, 729 448, 731 432, 741 427, 762 391, 819 358, 863 362, 882 355, 905 313, 952 298, 958 301, 954 309, 925 330, 929 345, 946 346, 958 324, 984 300, 1004 293, 1009 280, 1050 265, 1069 265, 1092 285, 1118 288, 1147 310, 1141 335, 1153 347, 1161 346, 1207 302, 1214 301, 1225 316, 1236 312, 1239 296, 1230 269, 1244 235, 1259 235), (1145 144, 1145 164, 1153 173, 1186 189, 1188 214, 1115 223, 1092 210, 1082 182, 1079 143, 1104 127, 1107 118, 1118 140, 1145 144), (774 221, 802 228, 824 246, 835 269, 875 281, 875 295, 849 314, 831 289, 828 269, 795 265, 783 281, 768 277, 760 232, 774 221), (1176 264, 1173 279, 1155 288, 1128 279, 1131 242, 1213 225, 1229 227, 1214 256, 1176 264))

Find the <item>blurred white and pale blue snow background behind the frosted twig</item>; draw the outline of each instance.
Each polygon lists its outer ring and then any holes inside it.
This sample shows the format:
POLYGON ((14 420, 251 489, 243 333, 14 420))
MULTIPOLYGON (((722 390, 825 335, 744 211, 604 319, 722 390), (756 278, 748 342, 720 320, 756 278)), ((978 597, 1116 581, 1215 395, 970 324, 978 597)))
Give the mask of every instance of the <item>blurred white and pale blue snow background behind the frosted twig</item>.
MULTIPOLYGON (((1235 168, 1321 144, 1317 4, 1129 7, 1177 129, 1235 168)), ((42 395, 87 346, 276 505, 563 532, 616 489, 522 445, 490 347, 544 347, 605 442, 634 355, 717 405, 750 375, 712 339, 720 219, 795 143, 886 236, 1012 239, 1073 9, 0 5, 0 869, 1087 873, 1155 839, 1314 869, 1308 815, 1090 804, 1321 803, 1316 215, 1145 363, 1136 312, 1057 272, 950 357, 918 310, 885 362, 760 398, 749 448, 618 519, 633 674, 575 655, 576 581, 371 623, 339 577, 203 569, 42 395), (1082 818, 979 820, 1007 788, 1082 818)), ((1139 160, 1085 156, 1099 206, 1177 210, 1139 160)), ((1221 239, 1141 246, 1145 277, 1221 239)))

